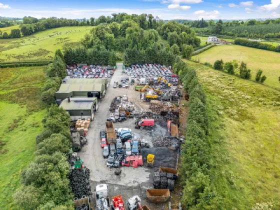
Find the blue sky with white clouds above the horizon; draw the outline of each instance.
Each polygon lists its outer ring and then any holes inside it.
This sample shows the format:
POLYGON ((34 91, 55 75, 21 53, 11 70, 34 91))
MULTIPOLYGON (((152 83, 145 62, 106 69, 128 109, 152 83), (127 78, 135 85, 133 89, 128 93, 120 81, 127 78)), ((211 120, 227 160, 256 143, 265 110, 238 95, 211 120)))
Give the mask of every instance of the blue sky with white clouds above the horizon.
POLYGON ((0 0, 0 16, 90 18, 147 13, 160 19, 280 17, 280 0, 0 0))

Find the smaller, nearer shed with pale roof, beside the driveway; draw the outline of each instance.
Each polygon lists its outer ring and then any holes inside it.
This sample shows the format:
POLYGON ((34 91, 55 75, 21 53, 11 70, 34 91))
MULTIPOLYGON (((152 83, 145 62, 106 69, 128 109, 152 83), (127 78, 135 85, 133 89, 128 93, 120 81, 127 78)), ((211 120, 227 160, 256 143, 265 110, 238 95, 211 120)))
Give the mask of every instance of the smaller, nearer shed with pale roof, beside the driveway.
POLYGON ((98 101, 96 97, 67 97, 62 100, 59 107, 64 108, 71 117, 71 120, 79 118, 93 120, 93 111, 98 109, 98 101))

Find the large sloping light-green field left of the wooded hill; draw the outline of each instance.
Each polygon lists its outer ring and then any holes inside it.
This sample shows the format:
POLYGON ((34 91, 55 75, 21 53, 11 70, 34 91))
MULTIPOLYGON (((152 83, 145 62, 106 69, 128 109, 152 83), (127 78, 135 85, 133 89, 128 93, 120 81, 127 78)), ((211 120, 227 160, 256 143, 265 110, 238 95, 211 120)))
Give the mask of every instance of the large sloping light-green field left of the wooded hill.
POLYGON ((0 62, 51 60, 56 49, 79 45, 80 39, 89 32, 90 28, 92 26, 67 26, 40 31, 21 38, 0 39, 0 62), (48 36, 59 32, 60 35, 48 36))

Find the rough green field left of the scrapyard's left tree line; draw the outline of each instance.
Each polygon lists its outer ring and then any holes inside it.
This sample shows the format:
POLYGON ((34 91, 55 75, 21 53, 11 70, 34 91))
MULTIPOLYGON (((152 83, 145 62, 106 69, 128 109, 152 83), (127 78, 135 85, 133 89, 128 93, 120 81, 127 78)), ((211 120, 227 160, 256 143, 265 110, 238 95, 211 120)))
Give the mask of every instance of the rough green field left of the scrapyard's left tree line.
POLYGON ((15 209, 12 195, 20 186, 19 173, 34 158, 35 137, 42 130, 45 110, 39 96, 43 67, 0 70, 0 209, 15 209))

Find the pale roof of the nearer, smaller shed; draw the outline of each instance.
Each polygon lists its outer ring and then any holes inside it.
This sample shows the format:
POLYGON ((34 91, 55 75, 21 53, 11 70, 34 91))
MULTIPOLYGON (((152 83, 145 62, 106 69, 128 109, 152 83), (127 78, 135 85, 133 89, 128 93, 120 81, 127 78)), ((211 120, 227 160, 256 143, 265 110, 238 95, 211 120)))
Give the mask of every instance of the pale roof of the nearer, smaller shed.
POLYGON ((66 98, 61 101, 59 107, 65 110, 89 110, 95 102, 97 104, 96 97, 70 97, 70 102, 66 98))

